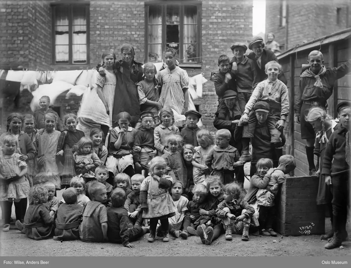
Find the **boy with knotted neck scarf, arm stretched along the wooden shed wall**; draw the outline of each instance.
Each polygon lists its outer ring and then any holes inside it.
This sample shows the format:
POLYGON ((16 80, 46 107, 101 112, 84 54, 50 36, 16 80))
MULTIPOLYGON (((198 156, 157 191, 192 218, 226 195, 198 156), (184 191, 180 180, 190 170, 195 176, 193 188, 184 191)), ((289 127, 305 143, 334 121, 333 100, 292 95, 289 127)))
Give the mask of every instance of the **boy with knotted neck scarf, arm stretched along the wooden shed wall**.
POLYGON ((316 173, 314 165, 314 129, 306 121, 309 109, 312 107, 326 108, 326 102, 333 93, 335 81, 349 72, 351 60, 337 68, 326 68, 323 54, 313 50, 308 56, 309 68, 300 75, 299 90, 295 101, 296 122, 301 125, 301 139, 306 140, 306 155, 309 163, 310 176, 316 173))

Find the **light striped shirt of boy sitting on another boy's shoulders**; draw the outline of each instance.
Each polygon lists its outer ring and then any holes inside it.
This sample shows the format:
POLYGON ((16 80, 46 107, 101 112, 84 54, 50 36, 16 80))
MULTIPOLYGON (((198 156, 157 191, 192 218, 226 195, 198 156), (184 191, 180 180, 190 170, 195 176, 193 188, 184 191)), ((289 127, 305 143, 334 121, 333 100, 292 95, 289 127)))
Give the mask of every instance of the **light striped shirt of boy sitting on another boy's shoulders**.
POLYGON ((260 82, 247 102, 244 113, 249 114, 258 101, 277 103, 280 107, 280 118, 283 120, 289 115, 289 92, 286 85, 278 79, 275 81, 266 79, 260 82))

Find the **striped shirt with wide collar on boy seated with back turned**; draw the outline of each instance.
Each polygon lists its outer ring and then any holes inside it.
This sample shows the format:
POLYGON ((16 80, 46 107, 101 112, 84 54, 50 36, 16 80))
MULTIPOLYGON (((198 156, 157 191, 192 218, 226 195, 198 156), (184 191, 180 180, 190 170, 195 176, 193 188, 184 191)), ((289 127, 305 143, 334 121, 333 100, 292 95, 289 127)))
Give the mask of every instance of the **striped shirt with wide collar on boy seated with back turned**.
POLYGON ((89 201, 82 212, 79 236, 85 242, 104 242, 101 224, 107 222, 107 209, 97 201, 89 201))

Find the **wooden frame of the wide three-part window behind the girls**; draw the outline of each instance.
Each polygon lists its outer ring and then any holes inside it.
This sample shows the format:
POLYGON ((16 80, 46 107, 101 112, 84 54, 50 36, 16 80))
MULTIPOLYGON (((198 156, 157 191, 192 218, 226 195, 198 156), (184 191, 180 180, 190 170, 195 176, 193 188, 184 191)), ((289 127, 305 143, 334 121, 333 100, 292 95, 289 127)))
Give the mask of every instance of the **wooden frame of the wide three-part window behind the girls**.
POLYGON ((161 37, 161 48, 162 54, 166 48, 166 8, 167 5, 180 6, 179 9, 179 55, 184 57, 184 7, 185 6, 196 6, 197 7, 197 58, 194 62, 183 62, 179 60, 180 67, 201 67, 201 55, 202 55, 202 2, 196 0, 182 0, 182 1, 147 1, 145 2, 145 63, 148 62, 148 19, 149 19, 149 7, 150 6, 162 6, 162 37, 161 37))

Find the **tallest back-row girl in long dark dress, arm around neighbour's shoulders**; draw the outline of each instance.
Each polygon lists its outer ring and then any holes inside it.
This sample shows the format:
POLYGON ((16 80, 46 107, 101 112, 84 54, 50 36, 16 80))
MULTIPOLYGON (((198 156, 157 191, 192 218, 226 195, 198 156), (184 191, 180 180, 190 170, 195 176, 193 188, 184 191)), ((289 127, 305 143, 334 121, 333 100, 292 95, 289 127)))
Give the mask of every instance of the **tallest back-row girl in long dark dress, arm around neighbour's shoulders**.
MULTIPOLYGON (((143 77, 141 66, 143 64, 134 61, 135 50, 133 46, 122 46, 122 59, 115 62, 113 68, 116 76, 116 88, 113 101, 112 122, 113 127, 118 126, 117 115, 126 111, 131 116, 131 126, 135 127, 139 120, 140 104, 138 97, 138 89, 135 85, 140 82, 143 77)), ((104 69, 106 66, 97 66, 101 76, 106 75, 104 69)))

